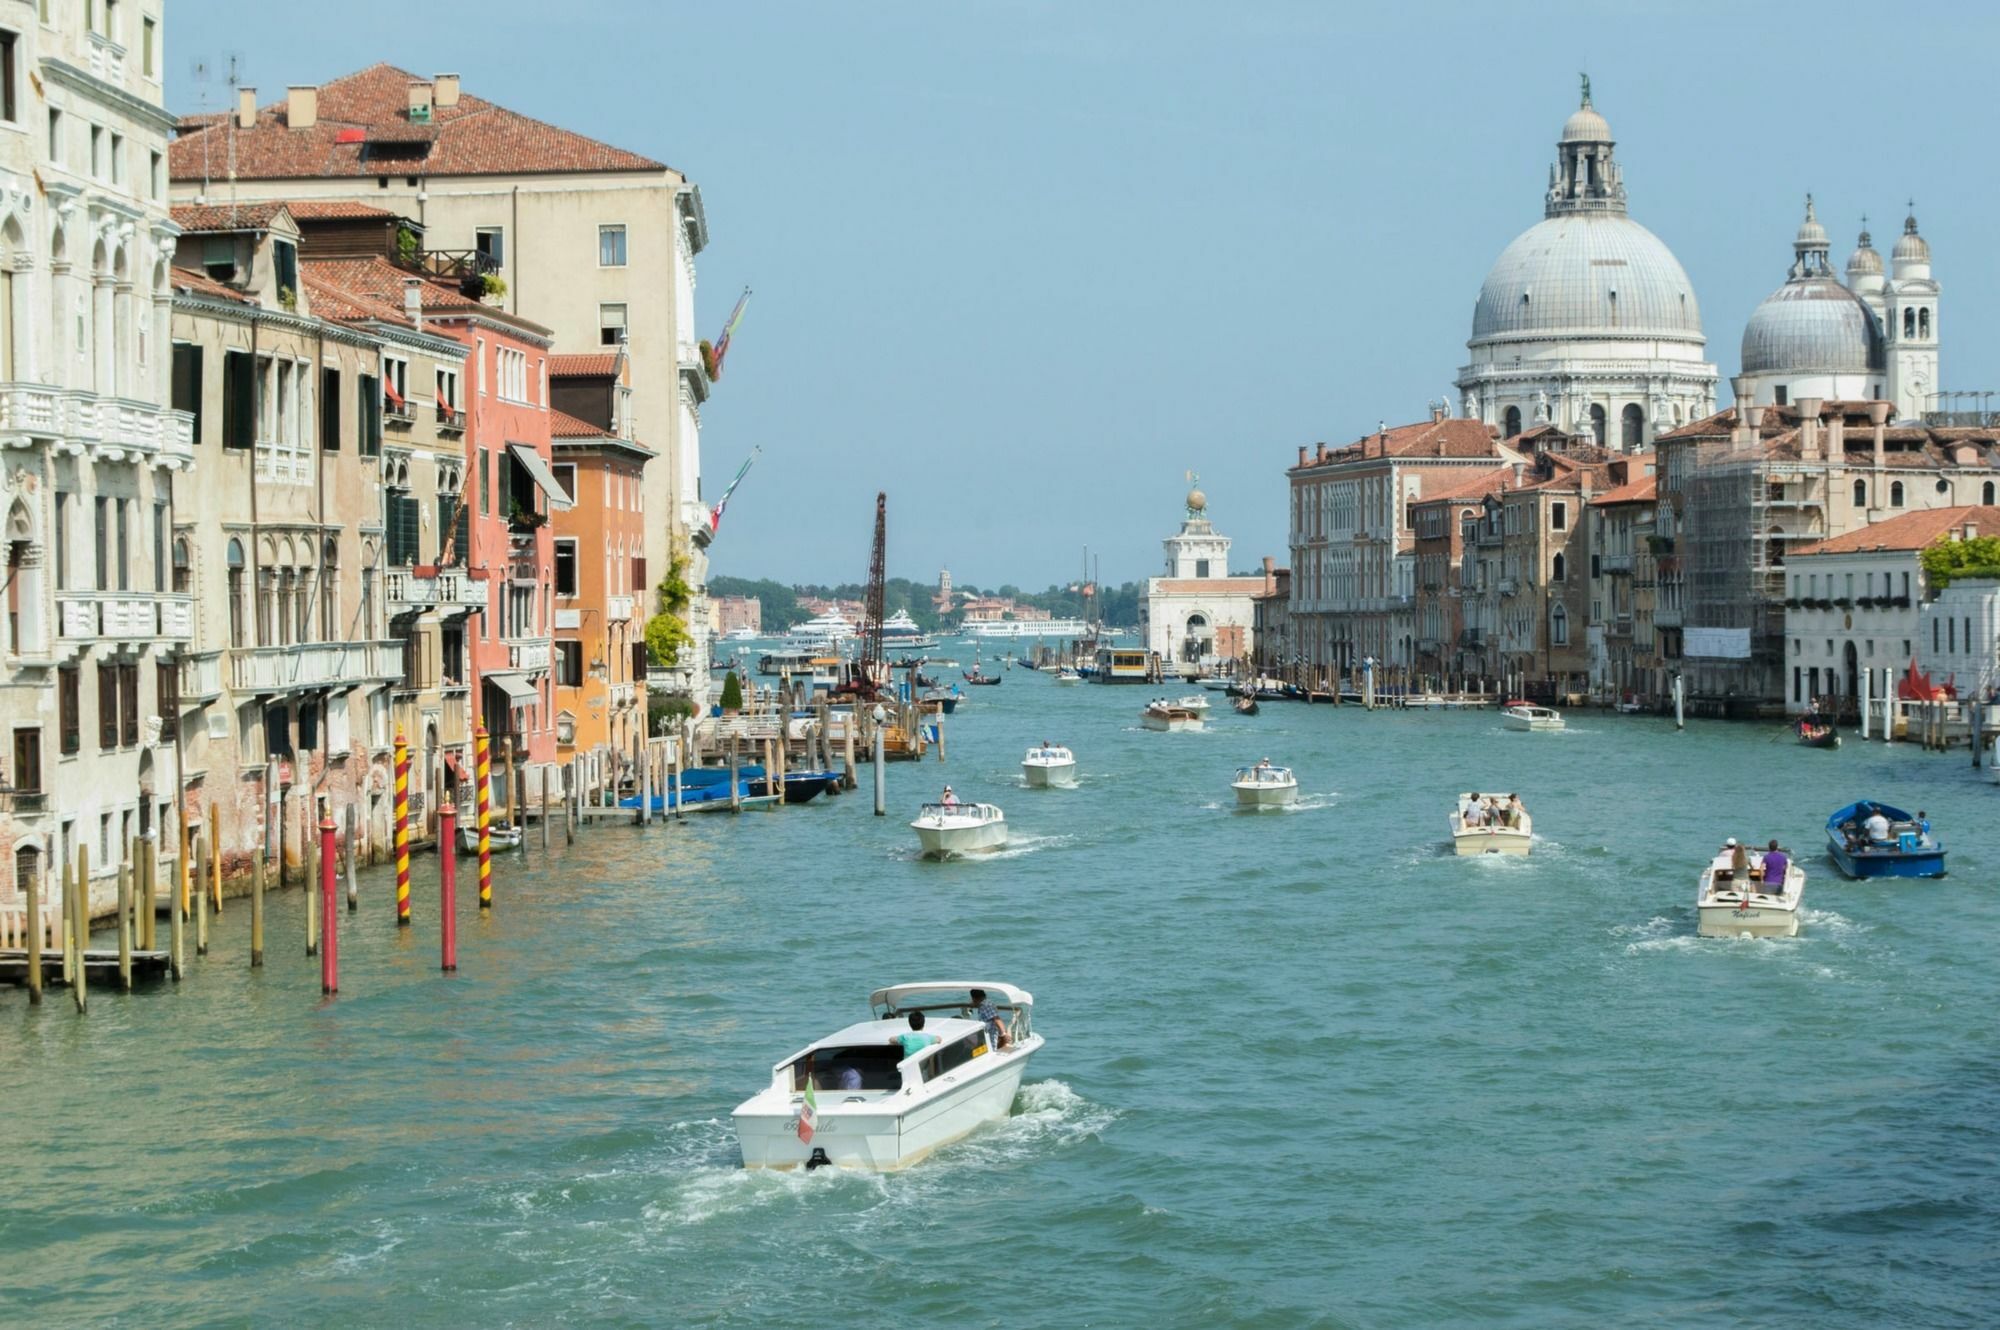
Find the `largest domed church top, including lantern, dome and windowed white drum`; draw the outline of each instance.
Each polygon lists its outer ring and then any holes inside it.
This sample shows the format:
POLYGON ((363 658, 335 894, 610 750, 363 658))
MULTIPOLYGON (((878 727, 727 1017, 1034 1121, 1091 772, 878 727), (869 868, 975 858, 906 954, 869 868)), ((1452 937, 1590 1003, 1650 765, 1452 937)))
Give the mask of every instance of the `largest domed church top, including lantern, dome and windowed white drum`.
POLYGON ((1544 216, 1502 250, 1472 310, 1462 410, 1502 434, 1550 422, 1636 450, 1716 406, 1694 284, 1626 216, 1612 146, 1586 78, 1556 144, 1544 216))

